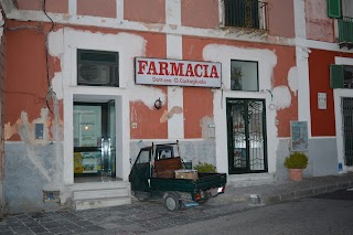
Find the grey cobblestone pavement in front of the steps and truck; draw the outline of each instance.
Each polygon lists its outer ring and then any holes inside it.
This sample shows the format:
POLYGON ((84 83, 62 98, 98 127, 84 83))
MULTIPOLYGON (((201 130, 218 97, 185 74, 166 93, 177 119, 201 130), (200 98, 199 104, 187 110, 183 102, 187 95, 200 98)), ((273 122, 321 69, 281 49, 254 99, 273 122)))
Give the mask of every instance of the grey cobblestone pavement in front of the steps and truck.
MULTIPOLYGON (((222 196, 222 195, 221 195, 222 196)), ((11 215, 0 222, 0 235, 141 234, 205 221, 250 209, 248 203, 210 203, 169 212, 161 202, 133 202, 107 209, 11 215)))

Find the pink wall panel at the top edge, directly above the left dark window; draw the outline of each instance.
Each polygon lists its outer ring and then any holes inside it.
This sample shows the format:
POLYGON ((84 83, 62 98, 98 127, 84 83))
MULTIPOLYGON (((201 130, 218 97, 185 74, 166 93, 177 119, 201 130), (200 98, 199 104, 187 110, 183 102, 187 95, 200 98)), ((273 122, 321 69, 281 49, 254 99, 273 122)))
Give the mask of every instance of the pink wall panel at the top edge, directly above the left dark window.
POLYGON ((116 0, 77 0, 77 14, 116 18, 116 0))

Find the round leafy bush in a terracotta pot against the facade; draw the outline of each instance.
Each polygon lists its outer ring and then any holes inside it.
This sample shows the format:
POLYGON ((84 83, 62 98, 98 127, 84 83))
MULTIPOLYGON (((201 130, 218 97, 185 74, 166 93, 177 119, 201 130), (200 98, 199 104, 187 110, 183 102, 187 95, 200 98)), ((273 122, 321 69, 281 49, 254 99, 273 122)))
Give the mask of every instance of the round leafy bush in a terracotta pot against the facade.
POLYGON ((285 160, 285 167, 289 169, 291 181, 302 180, 302 169, 308 167, 308 157, 302 152, 292 152, 285 160))

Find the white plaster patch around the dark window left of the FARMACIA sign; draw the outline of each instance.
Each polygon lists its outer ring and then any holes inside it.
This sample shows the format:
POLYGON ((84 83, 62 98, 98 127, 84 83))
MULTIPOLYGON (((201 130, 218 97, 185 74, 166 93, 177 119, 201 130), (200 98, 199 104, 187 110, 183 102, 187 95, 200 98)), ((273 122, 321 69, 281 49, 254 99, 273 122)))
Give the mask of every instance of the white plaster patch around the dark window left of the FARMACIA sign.
MULTIPOLYGON (((135 57, 145 56, 146 54, 147 41, 142 36, 131 33, 92 33, 68 28, 65 28, 64 34, 67 41, 65 42, 65 55, 68 55, 68 57, 66 57, 63 66, 72 68, 71 73, 67 74, 67 76, 71 77, 71 83, 68 84, 74 85, 76 81, 76 67, 73 67, 73 65, 76 66, 75 56, 71 57, 73 49, 113 51, 119 53, 120 87, 129 88, 128 94, 130 102, 140 100, 150 109, 153 109, 154 102, 158 98, 160 98, 162 103, 165 103, 165 94, 158 87, 135 84, 135 57)), ((60 36, 55 39, 57 42, 60 42, 58 38, 60 36)), ((60 52, 60 50, 56 51, 60 52)), ((66 74, 63 74, 62 76, 66 77, 66 74)), ((67 81, 65 84, 67 84, 67 81)), ((57 98, 60 98, 60 96, 57 98)))

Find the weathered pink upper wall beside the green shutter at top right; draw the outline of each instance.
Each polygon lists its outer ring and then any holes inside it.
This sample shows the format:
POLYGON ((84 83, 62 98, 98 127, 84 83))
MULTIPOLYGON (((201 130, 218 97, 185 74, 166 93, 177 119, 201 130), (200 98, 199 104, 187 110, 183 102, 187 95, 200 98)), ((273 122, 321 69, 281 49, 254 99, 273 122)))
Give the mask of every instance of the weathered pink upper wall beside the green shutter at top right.
POLYGON ((333 20, 328 18, 327 0, 306 0, 307 38, 334 42, 333 20))

